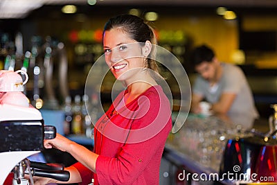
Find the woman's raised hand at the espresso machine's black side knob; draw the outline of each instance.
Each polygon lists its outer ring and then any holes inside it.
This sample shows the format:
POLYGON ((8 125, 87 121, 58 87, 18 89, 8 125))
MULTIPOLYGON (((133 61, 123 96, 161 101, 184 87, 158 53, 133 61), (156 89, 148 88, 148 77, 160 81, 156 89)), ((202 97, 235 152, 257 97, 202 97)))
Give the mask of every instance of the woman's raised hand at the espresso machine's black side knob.
POLYGON ((44 140, 44 147, 57 148, 58 150, 61 150, 63 152, 69 152, 69 147, 72 143, 74 142, 66 139, 66 137, 62 136, 61 134, 56 134, 55 139, 44 140))

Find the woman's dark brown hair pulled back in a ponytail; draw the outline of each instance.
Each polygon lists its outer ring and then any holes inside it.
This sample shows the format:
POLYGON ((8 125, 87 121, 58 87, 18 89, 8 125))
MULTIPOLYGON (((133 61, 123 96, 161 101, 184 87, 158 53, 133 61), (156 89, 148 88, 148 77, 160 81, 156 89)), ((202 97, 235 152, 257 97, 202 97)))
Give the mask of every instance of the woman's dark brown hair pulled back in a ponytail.
MULTIPOLYGON (((103 34, 106 30, 111 30, 112 28, 119 28, 129 35, 131 39, 136 40, 136 42, 145 43, 149 40, 152 44, 157 44, 157 39, 154 35, 154 29, 146 24, 143 19, 136 17, 135 15, 118 15, 112 17, 105 24, 103 34)), ((154 59, 154 47, 152 45, 152 51, 148 56, 147 66, 153 71, 159 72, 159 67, 154 59)))

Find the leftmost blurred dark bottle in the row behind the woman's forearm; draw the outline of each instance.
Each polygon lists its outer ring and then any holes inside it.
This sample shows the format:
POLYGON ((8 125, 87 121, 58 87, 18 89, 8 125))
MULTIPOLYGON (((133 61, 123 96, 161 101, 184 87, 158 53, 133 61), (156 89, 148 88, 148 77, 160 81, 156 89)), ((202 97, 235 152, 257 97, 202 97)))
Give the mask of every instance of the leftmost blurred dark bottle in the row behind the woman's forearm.
POLYGON ((72 106, 71 96, 66 96, 64 104, 64 134, 72 134, 72 106))

